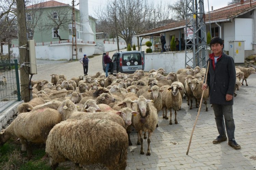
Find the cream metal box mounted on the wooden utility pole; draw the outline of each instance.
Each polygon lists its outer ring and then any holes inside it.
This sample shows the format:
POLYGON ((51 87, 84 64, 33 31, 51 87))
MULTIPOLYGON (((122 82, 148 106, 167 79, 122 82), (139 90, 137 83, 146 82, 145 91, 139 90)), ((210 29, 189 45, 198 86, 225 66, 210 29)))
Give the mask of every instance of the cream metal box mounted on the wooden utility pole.
POLYGON ((35 59, 35 40, 28 40, 29 74, 37 74, 37 63, 35 59))

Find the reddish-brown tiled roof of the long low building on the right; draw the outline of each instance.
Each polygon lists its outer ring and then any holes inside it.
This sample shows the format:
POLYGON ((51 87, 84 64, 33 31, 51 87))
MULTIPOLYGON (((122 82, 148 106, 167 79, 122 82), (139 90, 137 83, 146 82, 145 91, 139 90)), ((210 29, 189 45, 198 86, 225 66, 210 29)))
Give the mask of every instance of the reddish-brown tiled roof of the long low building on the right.
MULTIPOLYGON (((241 5, 240 2, 237 4, 229 5, 223 8, 219 8, 217 10, 214 10, 212 12, 205 14, 205 22, 214 22, 223 19, 232 19, 236 16, 242 15, 245 12, 251 11, 256 8, 256 1, 252 1, 250 4, 250 0, 244 1, 244 3, 241 5), (252 4, 252 6, 251 6, 252 4)), ((178 21, 178 22, 172 22, 167 24, 163 27, 158 27, 152 30, 147 30, 140 35, 150 35, 155 34, 158 35, 161 31, 166 30, 175 30, 180 28, 184 28, 186 25, 186 20, 178 21)))

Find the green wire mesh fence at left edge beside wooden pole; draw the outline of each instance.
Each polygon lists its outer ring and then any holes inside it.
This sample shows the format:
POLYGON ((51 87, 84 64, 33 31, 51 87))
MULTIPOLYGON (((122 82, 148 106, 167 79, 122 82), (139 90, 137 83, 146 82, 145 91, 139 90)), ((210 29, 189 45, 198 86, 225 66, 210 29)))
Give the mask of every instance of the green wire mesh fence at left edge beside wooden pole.
POLYGON ((0 115, 20 99, 17 59, 0 60, 0 115))

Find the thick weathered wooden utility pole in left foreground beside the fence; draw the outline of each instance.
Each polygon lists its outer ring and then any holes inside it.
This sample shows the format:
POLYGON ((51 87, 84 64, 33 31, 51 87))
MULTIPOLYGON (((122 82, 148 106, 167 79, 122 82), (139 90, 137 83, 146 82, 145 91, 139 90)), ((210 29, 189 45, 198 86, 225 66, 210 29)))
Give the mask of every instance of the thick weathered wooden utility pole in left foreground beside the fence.
POLYGON ((16 0, 17 2, 17 22, 18 22, 18 38, 19 38, 19 63, 20 67, 20 95, 24 102, 30 101, 29 90, 29 67, 28 67, 28 40, 25 17, 24 0, 16 0))

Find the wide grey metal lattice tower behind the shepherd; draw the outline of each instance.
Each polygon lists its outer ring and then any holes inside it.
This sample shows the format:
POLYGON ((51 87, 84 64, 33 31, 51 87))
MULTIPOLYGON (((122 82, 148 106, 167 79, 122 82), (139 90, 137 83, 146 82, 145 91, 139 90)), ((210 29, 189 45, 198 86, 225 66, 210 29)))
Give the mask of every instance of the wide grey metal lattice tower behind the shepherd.
POLYGON ((186 0, 186 30, 185 30, 185 50, 186 66, 195 68, 196 66, 206 67, 207 43, 203 0, 186 0), (187 30, 193 30, 193 38, 187 40, 187 30), (187 52, 193 50, 193 57, 187 52))

